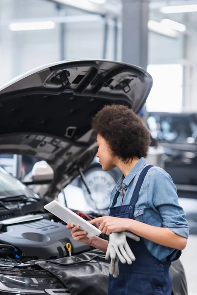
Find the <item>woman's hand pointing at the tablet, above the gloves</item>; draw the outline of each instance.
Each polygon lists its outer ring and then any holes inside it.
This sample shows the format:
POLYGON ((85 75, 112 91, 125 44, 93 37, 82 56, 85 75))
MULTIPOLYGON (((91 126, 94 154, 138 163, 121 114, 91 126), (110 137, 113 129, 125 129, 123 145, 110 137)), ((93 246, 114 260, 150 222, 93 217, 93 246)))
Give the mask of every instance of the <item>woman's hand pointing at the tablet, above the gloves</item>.
POLYGON ((128 230, 128 224, 131 222, 129 218, 119 218, 112 216, 102 216, 90 221, 91 224, 99 223, 99 230, 105 234, 120 233, 128 230))

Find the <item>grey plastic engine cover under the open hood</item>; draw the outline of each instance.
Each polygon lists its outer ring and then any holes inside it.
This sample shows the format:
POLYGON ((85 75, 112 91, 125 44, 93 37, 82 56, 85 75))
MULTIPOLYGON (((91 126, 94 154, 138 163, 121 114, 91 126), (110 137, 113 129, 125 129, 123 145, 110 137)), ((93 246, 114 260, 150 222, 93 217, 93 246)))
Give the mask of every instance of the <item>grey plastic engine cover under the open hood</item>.
POLYGON ((41 219, 34 222, 7 227, 0 234, 0 243, 11 244, 25 256, 38 259, 53 259, 67 256, 66 243, 70 243, 71 253, 77 254, 90 249, 89 245, 76 242, 66 225, 41 219))

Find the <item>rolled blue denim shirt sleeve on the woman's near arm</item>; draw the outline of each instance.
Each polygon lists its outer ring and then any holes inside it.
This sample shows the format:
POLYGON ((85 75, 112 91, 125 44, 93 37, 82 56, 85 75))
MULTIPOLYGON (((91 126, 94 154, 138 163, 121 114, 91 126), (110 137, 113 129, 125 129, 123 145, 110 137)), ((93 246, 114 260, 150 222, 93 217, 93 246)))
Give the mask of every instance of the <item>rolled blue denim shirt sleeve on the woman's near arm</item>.
POLYGON ((148 189, 150 203, 154 209, 159 211, 163 227, 169 228, 179 236, 188 238, 188 222, 185 219, 183 208, 179 206, 176 191, 176 186, 169 174, 161 168, 152 171, 148 189))

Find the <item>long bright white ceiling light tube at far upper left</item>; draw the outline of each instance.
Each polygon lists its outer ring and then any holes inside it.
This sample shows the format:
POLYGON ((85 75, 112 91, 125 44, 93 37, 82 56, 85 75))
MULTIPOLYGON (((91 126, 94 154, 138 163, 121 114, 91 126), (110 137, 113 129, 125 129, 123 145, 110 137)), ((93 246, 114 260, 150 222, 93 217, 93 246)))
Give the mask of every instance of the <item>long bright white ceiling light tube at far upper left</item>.
POLYGON ((21 30, 39 30, 39 29, 54 29, 56 24, 54 22, 24 22, 24 23, 11 23, 8 28, 12 31, 21 30))

